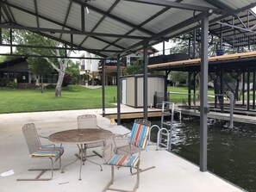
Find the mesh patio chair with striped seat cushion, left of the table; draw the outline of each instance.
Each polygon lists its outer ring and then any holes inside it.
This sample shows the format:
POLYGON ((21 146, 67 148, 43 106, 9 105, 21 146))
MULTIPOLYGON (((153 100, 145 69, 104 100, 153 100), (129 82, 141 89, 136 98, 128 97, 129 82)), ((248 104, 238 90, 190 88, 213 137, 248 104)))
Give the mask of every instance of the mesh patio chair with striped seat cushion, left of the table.
MULTIPOLYGON (((53 178, 53 170, 59 170, 61 167, 61 156, 64 152, 64 148, 59 146, 56 147, 54 144, 50 144, 47 146, 42 146, 40 135, 37 134, 36 128, 34 126, 34 123, 28 123, 25 124, 22 127, 22 132, 24 134, 24 137, 27 141, 28 150, 31 158, 49 158, 52 162, 52 168, 51 169, 29 169, 29 170, 41 170, 41 172, 35 177, 35 178, 22 178, 17 179, 17 181, 48 181, 53 178), (59 159, 59 167, 53 168, 53 164, 55 164, 59 159), (51 170, 52 174, 51 177, 48 178, 41 178, 41 176, 47 171, 51 170)), ((46 138, 46 137, 42 137, 46 138)))

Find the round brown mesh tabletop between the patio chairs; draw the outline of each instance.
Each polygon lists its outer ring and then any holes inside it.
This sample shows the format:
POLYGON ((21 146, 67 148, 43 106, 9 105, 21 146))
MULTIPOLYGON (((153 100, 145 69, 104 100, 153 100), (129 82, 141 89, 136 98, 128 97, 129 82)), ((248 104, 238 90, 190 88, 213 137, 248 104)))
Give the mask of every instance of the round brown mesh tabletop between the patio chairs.
POLYGON ((97 128, 72 129, 53 133, 49 140, 53 143, 89 144, 101 141, 102 136, 109 133, 108 130, 97 128))

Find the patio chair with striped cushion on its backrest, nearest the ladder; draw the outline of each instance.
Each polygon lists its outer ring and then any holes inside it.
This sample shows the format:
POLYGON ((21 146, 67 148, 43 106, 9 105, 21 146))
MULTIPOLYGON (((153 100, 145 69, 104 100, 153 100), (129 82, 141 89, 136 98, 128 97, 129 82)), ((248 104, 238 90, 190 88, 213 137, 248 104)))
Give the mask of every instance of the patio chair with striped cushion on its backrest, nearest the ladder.
MULTIPOLYGON (((134 154, 141 151, 144 151, 147 147, 147 139, 149 134, 149 129, 151 126, 151 122, 144 119, 136 119, 134 120, 134 126, 132 128, 131 136, 128 142, 128 145, 125 146, 117 146, 115 148, 116 154, 134 154)), ((154 166, 148 167, 146 169, 140 170, 140 172, 145 170, 150 170, 155 168, 154 166)), ((131 174, 135 174, 130 169, 131 174)))

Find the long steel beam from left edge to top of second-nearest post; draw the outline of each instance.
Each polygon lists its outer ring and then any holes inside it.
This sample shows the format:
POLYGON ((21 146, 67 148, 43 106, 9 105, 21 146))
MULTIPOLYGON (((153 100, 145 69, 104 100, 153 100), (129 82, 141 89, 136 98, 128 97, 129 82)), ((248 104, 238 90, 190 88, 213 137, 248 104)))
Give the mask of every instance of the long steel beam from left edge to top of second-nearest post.
POLYGON ((20 25, 6 25, 0 24, 0 28, 11 28, 11 29, 21 29, 28 31, 40 31, 40 32, 49 32, 51 34, 81 34, 88 36, 103 36, 103 37, 114 37, 114 38, 128 38, 135 40, 145 40, 145 37, 134 36, 134 35, 122 35, 122 34, 103 34, 103 33, 91 33, 91 32, 83 32, 83 31, 73 31, 73 30, 63 30, 63 29, 55 29, 55 28, 34 28, 34 27, 24 27, 20 25))

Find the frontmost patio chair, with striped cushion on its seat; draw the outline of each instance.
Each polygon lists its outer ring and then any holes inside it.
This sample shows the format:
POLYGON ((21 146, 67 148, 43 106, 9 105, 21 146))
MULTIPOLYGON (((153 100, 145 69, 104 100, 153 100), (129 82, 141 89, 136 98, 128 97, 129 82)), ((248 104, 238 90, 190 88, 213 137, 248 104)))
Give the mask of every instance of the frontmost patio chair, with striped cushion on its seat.
MULTIPOLYGON (((103 189, 104 191, 107 190, 114 190, 114 191, 126 191, 128 192, 129 190, 127 189, 115 189, 111 188, 110 186, 114 183, 114 170, 115 167, 120 168, 120 167, 128 167, 128 168, 137 168, 136 171, 136 183, 134 184, 133 189, 131 192, 136 191, 136 189, 139 188, 139 183, 140 183, 140 152, 132 154, 129 152, 128 154, 116 154, 116 148, 119 145, 126 146, 128 145, 129 138, 127 135, 122 135, 122 136, 116 136, 116 135, 106 135, 104 136, 105 138, 103 139, 103 160, 104 164, 110 165, 111 166, 111 179, 109 183, 106 185, 106 187, 103 189)), ((115 180, 116 181, 116 180, 115 180)))

